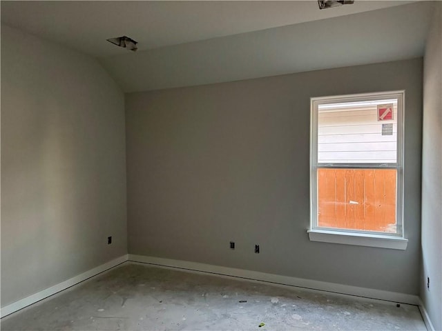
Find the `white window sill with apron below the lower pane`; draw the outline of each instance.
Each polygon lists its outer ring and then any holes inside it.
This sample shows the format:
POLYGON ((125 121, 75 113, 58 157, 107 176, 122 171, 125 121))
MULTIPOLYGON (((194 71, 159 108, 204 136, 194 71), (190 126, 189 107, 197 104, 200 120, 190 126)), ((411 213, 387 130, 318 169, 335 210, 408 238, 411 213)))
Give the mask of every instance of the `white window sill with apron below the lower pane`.
POLYGON ((367 234, 331 230, 307 230, 310 241, 323 243, 342 243, 345 245, 358 245, 392 250, 405 250, 408 239, 402 237, 383 236, 382 234, 367 234))

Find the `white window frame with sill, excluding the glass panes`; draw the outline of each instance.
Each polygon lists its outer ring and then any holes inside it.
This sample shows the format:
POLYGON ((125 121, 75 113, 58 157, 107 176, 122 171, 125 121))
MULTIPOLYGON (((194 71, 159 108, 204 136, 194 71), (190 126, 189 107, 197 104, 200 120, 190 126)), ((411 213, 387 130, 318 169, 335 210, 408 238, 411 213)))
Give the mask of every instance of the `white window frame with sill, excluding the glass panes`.
POLYGON ((377 248, 405 250, 407 239, 403 227, 403 119, 405 112, 405 91, 348 94, 332 97, 314 97, 311 101, 310 127, 310 228, 307 230, 311 241, 363 245, 377 248), (330 103, 397 99, 397 146, 396 163, 318 163, 318 106, 330 103), (318 168, 361 168, 396 169, 396 233, 361 230, 320 228, 318 226, 318 168))

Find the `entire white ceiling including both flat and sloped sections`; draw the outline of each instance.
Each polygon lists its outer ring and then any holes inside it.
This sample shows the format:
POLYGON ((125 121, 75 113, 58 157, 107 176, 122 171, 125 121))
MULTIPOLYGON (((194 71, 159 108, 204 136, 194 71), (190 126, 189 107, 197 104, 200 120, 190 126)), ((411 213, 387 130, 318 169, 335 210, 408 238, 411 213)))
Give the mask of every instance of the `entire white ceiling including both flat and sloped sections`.
POLYGON ((99 58, 125 92, 419 57, 432 4, 1 1, 1 22, 99 58), (139 50, 106 39, 127 35, 139 50))

